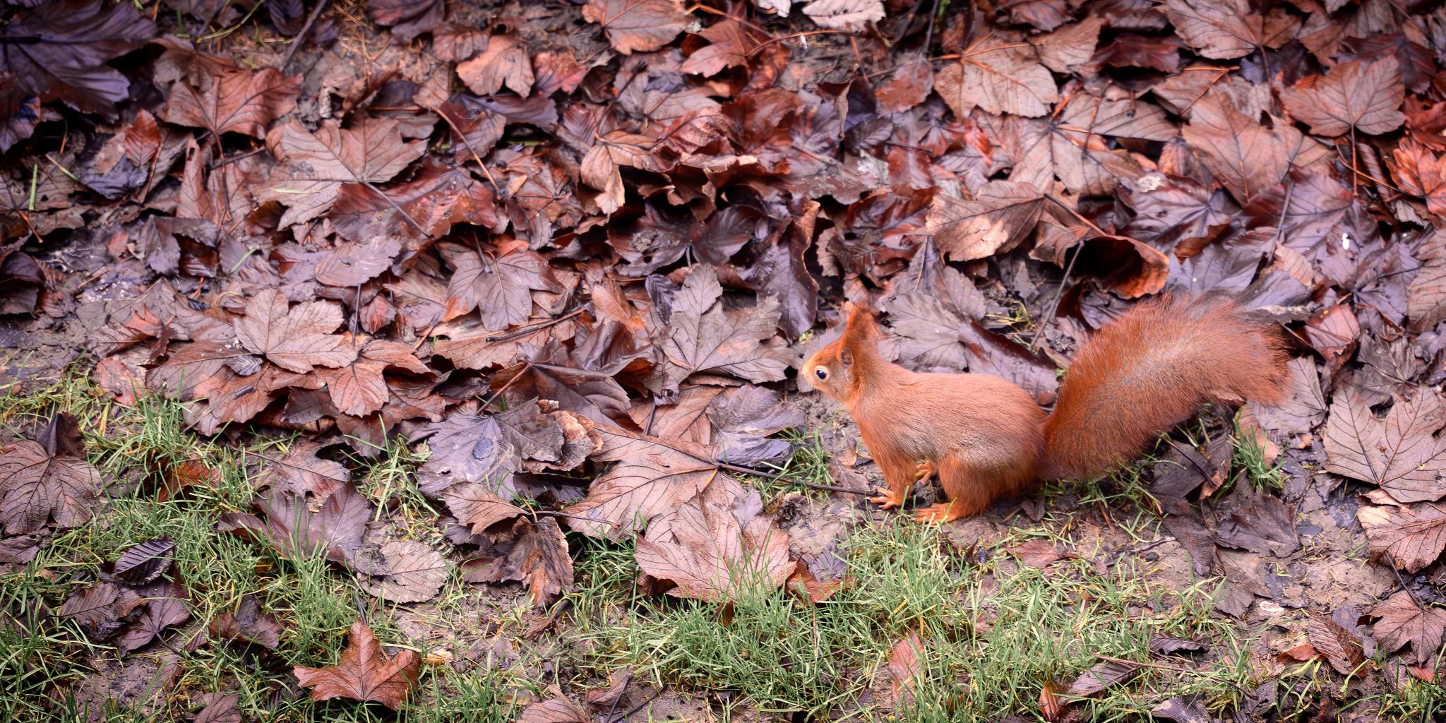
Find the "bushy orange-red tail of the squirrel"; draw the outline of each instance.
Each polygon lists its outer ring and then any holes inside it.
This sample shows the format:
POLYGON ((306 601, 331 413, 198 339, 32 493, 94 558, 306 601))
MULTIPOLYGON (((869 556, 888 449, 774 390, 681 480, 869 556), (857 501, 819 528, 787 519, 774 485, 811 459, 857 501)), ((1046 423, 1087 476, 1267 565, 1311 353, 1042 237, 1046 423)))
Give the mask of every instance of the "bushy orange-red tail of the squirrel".
POLYGON ((1074 356, 1044 424, 1043 476, 1108 471, 1206 402, 1278 402, 1283 343, 1228 299, 1164 296, 1135 307, 1074 356))

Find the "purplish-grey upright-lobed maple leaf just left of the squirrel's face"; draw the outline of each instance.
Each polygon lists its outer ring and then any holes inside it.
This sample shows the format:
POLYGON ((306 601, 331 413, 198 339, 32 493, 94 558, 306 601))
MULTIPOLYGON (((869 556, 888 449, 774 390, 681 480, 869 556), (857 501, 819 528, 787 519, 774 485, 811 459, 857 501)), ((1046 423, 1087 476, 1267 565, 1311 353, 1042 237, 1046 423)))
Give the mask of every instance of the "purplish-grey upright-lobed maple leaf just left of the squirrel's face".
POLYGON ((777 382, 792 360, 778 338, 778 299, 766 298, 750 309, 723 308, 723 286, 709 265, 693 268, 674 298, 672 315, 658 344, 667 375, 683 383, 694 372, 719 370, 749 382, 777 382))

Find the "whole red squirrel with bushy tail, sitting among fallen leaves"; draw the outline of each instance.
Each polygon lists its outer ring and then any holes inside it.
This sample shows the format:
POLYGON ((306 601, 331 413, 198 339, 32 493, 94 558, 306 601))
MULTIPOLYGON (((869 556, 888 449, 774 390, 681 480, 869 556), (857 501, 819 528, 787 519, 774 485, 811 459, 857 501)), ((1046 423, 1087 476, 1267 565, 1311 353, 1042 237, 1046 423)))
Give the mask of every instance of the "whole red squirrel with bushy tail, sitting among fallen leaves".
POLYGON ((937 471, 949 502, 917 519, 949 522, 1040 479, 1109 471, 1206 402, 1277 403, 1285 360, 1281 334, 1241 318, 1228 299, 1161 296, 1084 343, 1051 415, 998 376, 921 375, 884 360, 866 307, 853 308, 843 337, 803 373, 859 424, 889 484, 870 502, 901 506, 917 479, 937 471))

